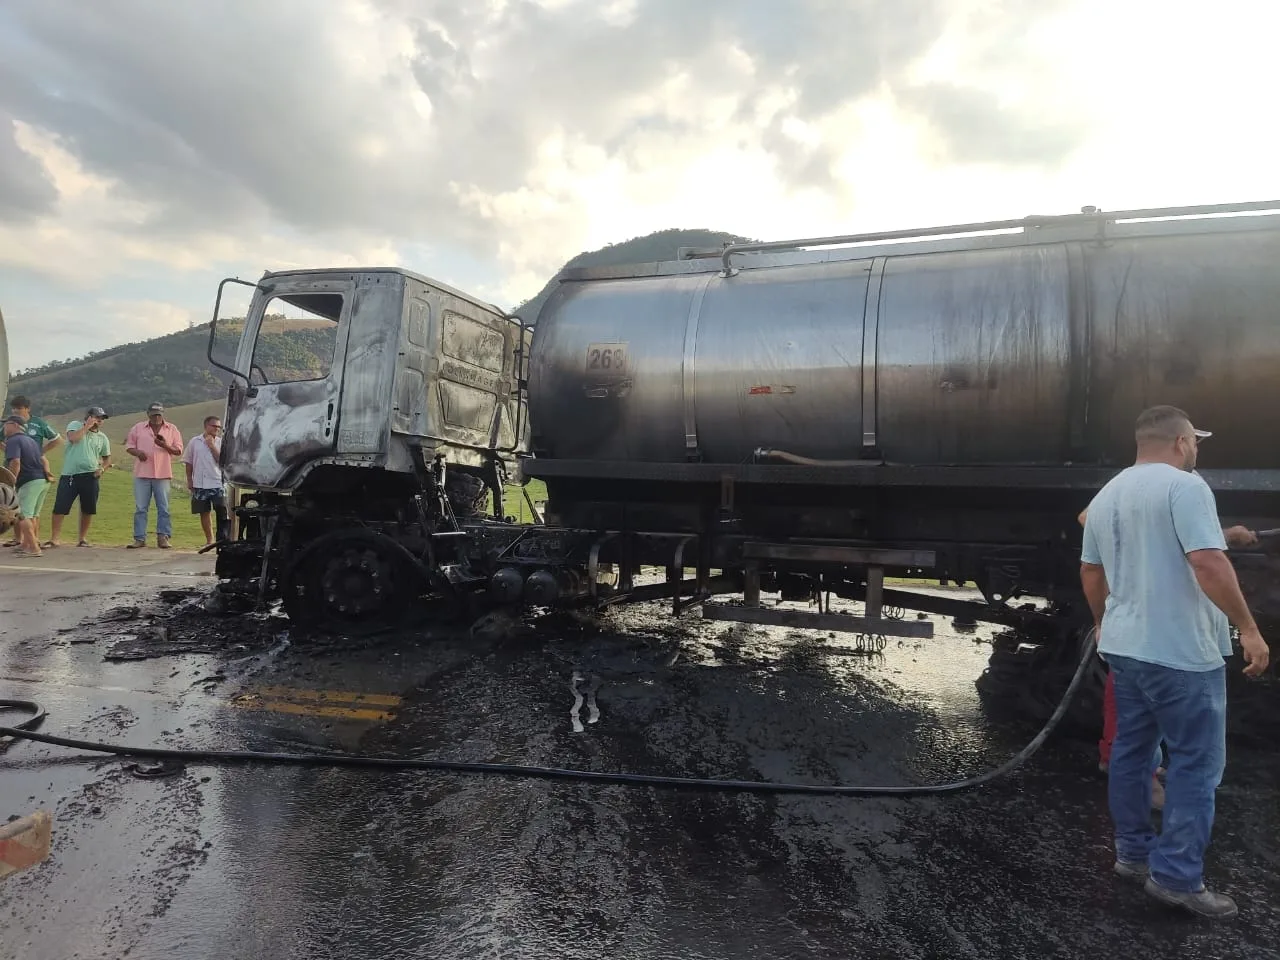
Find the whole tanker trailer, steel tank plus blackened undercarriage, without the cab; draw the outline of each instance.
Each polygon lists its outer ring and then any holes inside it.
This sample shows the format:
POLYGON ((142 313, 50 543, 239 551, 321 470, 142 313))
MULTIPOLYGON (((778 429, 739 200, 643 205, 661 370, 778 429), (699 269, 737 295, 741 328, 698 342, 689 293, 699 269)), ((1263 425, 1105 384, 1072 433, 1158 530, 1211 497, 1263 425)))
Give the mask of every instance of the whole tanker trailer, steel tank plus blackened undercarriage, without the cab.
MULTIPOLYGON (((548 524, 607 531, 596 559, 625 581, 695 567, 707 618, 901 636, 925 625, 892 607, 975 617, 1019 631, 989 682, 1056 677, 1089 622, 1075 518, 1132 462, 1140 410, 1213 430, 1224 522, 1280 526, 1277 214, 1085 207, 568 270, 535 326, 526 474, 548 524), (741 602, 707 602, 726 579, 741 602)), ((1267 630, 1276 564, 1234 559, 1267 630)))

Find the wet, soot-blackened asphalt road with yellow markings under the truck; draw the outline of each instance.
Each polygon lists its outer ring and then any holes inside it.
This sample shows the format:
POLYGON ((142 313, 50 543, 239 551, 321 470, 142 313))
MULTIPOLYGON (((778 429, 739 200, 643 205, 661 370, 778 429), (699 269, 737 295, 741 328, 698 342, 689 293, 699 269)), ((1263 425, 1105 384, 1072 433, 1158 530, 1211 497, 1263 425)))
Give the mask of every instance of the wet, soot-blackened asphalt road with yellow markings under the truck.
MULTIPOLYGON (((945 623, 873 657, 658 607, 316 643, 156 599, 207 585, 206 558, 58 559, 0 558, 0 696, 38 699, 50 732, 850 783, 959 778, 1034 733, 983 713, 983 634, 945 623), (122 604, 141 609, 101 620, 122 604)), ((145 780, 22 742, 0 753, 0 815, 50 810, 54 852, 0 882, 0 956, 1280 955, 1275 751, 1231 750, 1210 879, 1242 914, 1217 925, 1110 873, 1094 764, 1055 741, 975 792, 837 800, 334 769, 145 780)))

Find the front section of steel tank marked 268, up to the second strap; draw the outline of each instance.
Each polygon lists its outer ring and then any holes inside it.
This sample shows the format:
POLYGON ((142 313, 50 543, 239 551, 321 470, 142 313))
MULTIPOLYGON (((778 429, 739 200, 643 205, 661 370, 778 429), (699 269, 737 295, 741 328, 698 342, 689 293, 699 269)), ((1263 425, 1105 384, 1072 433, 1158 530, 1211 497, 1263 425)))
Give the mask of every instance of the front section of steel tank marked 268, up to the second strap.
POLYGON ((721 463, 760 445, 856 456, 869 269, 855 261, 731 280, 562 284, 534 333, 535 448, 721 463), (623 366, 602 370, 596 355, 621 356, 623 366))

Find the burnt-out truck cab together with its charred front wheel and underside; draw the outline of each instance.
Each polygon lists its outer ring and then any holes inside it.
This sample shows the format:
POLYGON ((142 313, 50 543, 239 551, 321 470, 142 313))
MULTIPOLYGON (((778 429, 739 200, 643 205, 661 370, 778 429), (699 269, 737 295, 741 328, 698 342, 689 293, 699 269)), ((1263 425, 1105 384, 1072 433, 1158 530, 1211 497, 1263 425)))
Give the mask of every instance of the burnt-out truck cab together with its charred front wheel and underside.
POLYGON ((243 492, 224 593, 352 630, 448 593, 460 522, 486 499, 500 516, 518 470, 526 356, 518 320, 406 270, 223 280, 209 358, 230 376, 221 462, 243 492), (224 364, 232 283, 253 293, 224 364))

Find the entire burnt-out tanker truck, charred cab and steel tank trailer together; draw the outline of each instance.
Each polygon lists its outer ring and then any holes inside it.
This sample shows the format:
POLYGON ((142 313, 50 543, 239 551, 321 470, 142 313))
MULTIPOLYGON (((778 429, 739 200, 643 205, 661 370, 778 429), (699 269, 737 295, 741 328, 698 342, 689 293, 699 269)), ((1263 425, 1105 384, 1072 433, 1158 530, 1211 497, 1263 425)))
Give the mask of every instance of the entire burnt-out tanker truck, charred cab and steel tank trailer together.
MULTIPOLYGON (((1224 522, 1280 526, 1276 214, 1085 209, 685 251, 567 270, 529 324, 402 270, 268 274, 229 371, 223 461, 252 493, 219 575, 338 628, 424 599, 662 599, 924 637, 902 616, 922 611, 1009 626, 997 666, 1032 650, 1050 676, 1089 620, 1076 515, 1132 461, 1143 407, 1215 431, 1201 472, 1224 522), (273 298, 332 321, 323 378, 256 369, 273 298), (516 524, 502 486, 529 477, 545 517, 516 524)), ((1271 558, 1236 561, 1274 622, 1271 558)))

